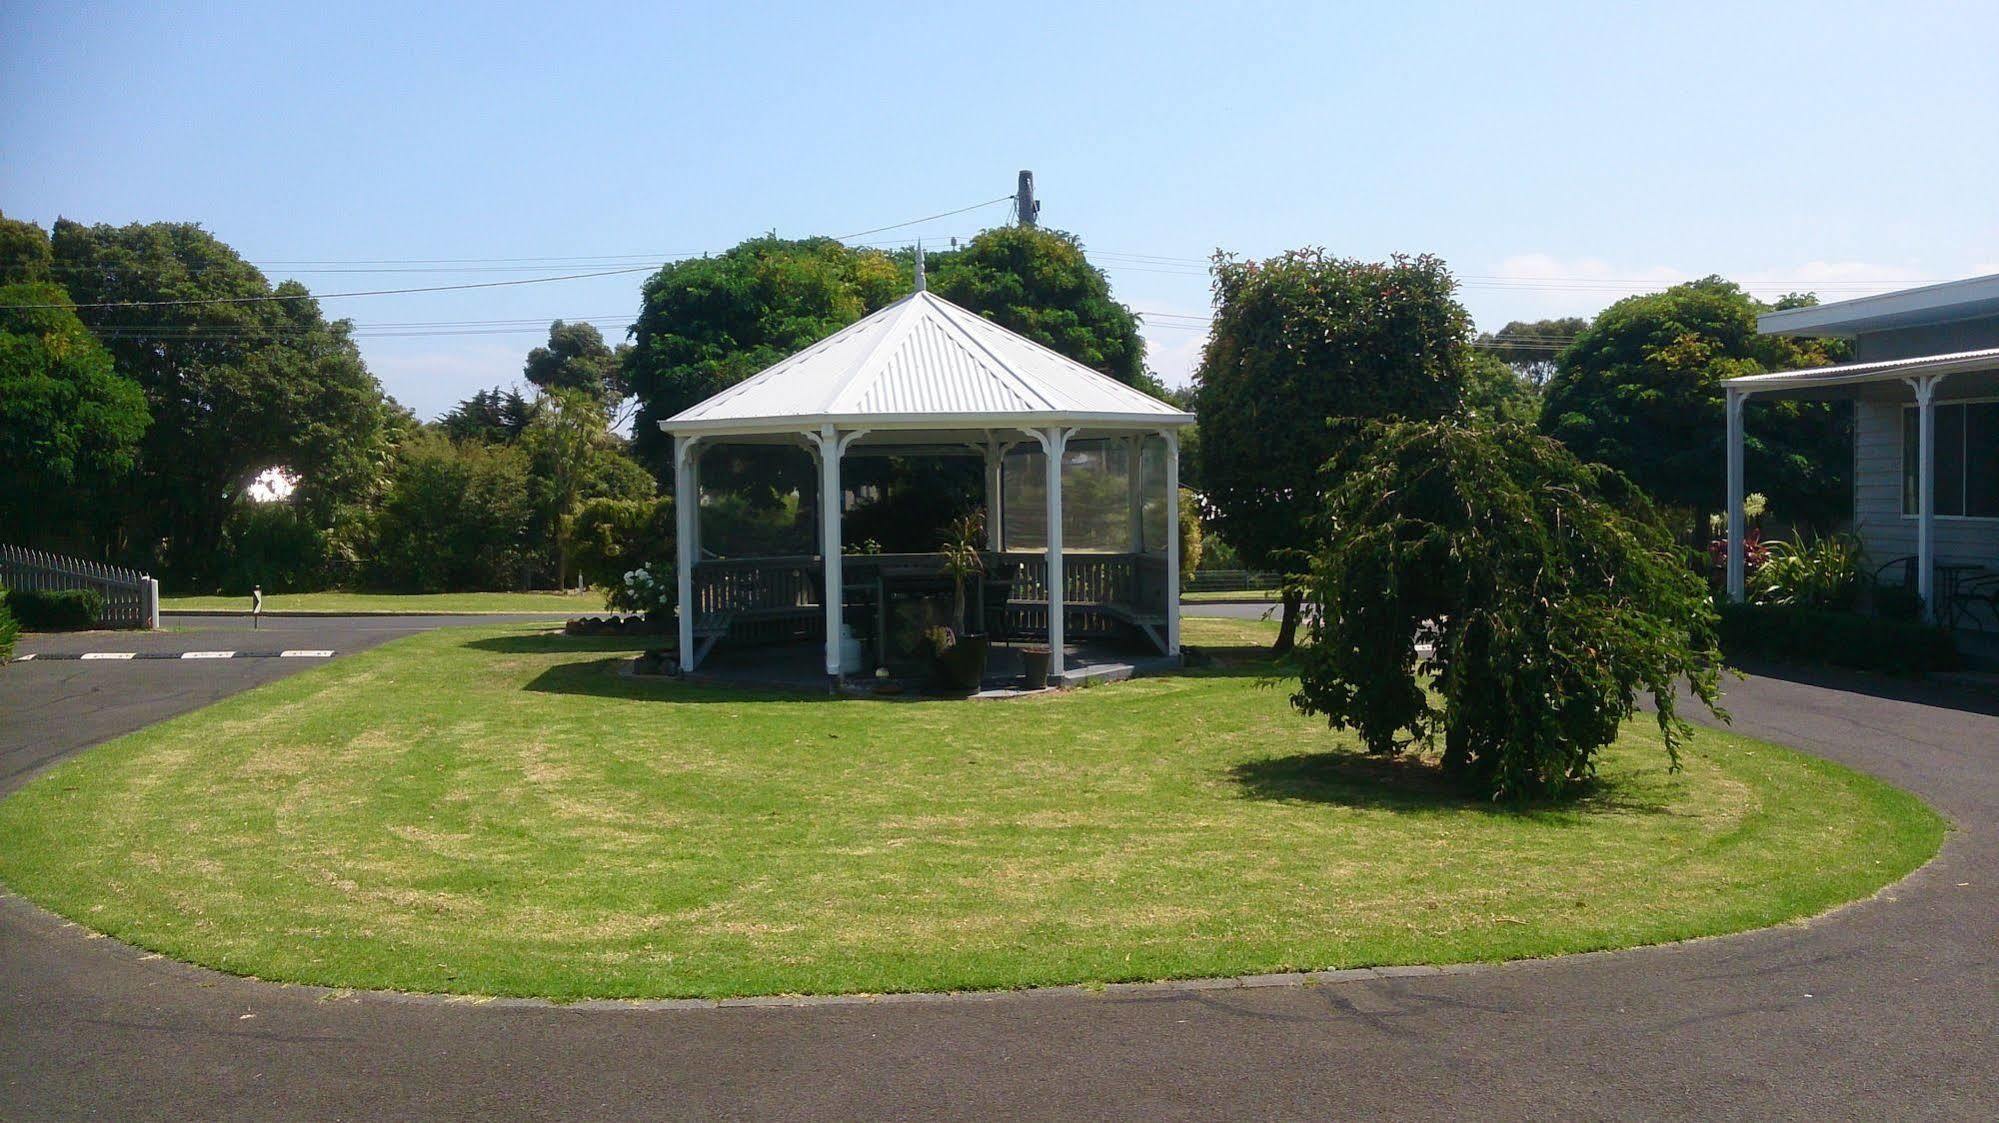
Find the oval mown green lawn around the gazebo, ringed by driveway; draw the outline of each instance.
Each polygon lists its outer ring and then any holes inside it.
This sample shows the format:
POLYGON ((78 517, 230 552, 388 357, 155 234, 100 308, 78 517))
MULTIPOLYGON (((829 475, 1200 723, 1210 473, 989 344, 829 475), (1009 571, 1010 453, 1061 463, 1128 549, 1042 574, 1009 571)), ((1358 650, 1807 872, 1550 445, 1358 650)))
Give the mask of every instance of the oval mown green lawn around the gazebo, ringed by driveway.
POLYGON ((1013 701, 752 697, 532 625, 346 655, 0 803, 0 877, 268 979, 640 997, 1021 987, 1625 947, 1819 913, 1935 853, 1915 797, 1631 725, 1507 811, 1297 717, 1269 625, 1013 701))

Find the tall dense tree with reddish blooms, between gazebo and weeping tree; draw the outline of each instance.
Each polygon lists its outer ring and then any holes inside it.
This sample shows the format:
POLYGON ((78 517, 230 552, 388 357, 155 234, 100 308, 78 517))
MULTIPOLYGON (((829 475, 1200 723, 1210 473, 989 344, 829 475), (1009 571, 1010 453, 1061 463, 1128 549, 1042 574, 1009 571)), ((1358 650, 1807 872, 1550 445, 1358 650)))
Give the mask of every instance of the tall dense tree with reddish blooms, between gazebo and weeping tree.
MULTIPOLYGON (((1443 262, 1267 262, 1215 254, 1215 322, 1195 372, 1201 484, 1213 530, 1257 569, 1297 571, 1335 422, 1441 418, 1459 408, 1471 318, 1443 262)), ((1287 589, 1277 649, 1297 635, 1287 589)))

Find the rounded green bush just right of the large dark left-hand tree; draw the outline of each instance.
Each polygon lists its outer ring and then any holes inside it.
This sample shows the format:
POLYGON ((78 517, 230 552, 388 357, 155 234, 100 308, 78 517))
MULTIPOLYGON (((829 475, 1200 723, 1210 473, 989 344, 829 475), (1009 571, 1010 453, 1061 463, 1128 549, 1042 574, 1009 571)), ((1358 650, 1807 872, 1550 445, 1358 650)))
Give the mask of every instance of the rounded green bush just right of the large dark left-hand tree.
POLYGON ((376 514, 370 581, 424 593, 522 587, 534 520, 528 488, 520 448, 410 438, 376 514))

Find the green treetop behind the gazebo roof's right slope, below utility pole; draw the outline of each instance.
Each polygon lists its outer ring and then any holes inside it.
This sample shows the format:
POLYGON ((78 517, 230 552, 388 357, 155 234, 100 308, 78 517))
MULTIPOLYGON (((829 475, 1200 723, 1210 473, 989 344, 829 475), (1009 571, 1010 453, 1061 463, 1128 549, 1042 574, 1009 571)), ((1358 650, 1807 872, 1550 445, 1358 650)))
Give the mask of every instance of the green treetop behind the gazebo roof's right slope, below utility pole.
POLYGON ((1125 386, 1163 398, 1137 314, 1111 296, 1083 244, 1043 226, 998 226, 926 260, 930 290, 1125 386))

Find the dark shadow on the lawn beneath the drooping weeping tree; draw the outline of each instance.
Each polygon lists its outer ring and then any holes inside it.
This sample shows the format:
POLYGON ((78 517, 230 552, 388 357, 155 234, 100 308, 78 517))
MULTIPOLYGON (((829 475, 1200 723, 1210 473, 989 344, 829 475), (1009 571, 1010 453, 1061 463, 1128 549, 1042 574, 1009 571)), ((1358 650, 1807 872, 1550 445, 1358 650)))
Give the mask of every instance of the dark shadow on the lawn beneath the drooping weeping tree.
POLYGON ((1591 813, 1675 813, 1659 795, 1613 779, 1587 779, 1559 801, 1497 803, 1465 793, 1435 761, 1361 751, 1293 753, 1231 765, 1227 775, 1245 799, 1333 803, 1385 811, 1485 811, 1493 815, 1575 821, 1591 813))

